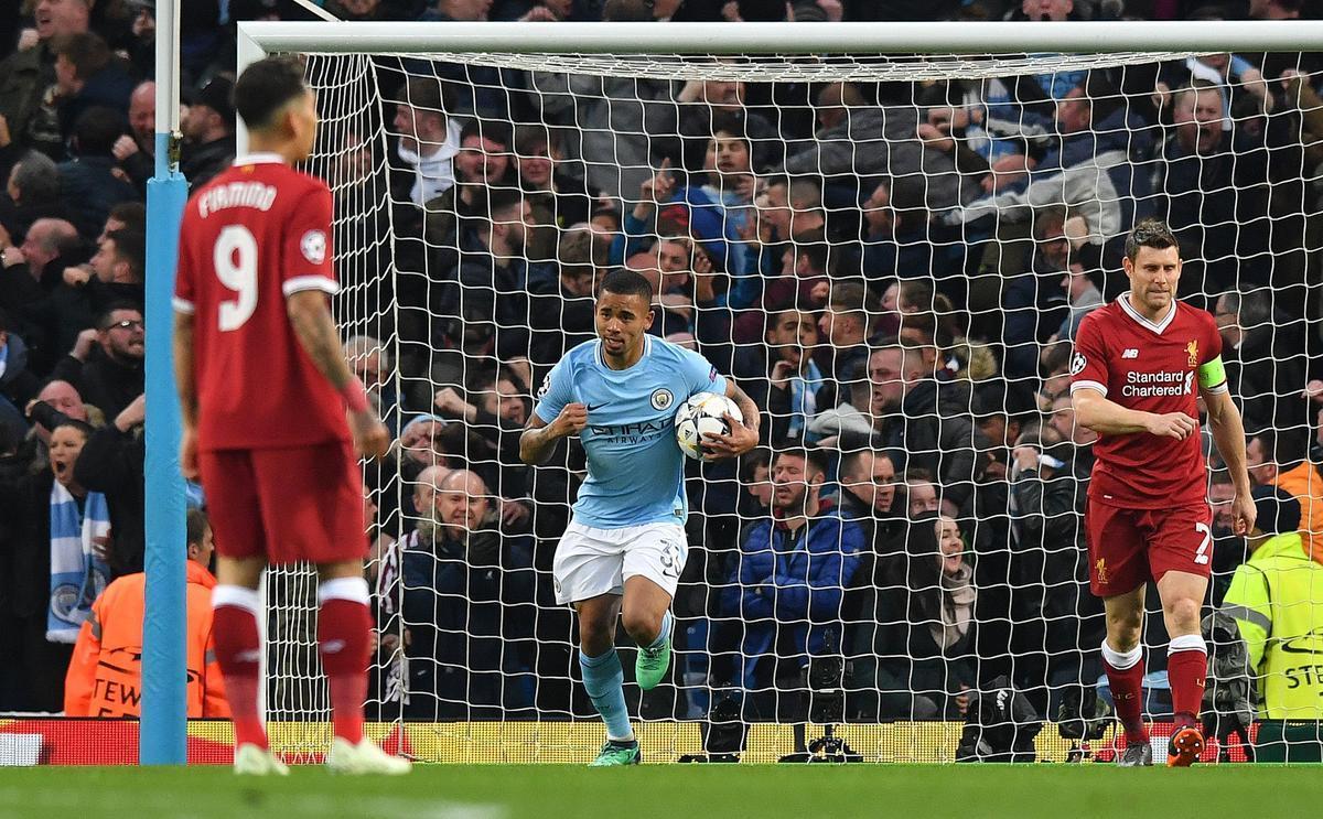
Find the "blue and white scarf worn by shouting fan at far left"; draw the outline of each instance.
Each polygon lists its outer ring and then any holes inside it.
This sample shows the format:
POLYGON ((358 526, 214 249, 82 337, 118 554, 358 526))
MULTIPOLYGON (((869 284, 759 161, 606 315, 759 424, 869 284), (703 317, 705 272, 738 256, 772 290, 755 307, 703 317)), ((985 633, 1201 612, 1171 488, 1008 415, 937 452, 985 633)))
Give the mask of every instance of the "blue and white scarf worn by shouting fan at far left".
POLYGON ((110 581, 110 566, 93 550, 94 539, 110 533, 106 496, 87 492, 78 501, 58 480, 50 487, 50 607, 46 639, 73 643, 91 605, 110 581))

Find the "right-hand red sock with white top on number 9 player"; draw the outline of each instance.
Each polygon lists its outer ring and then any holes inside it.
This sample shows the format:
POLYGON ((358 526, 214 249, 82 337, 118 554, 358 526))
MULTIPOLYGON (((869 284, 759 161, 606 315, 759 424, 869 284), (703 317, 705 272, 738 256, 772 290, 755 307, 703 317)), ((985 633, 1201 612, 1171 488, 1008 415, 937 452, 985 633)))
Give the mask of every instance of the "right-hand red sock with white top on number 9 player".
POLYGON ((368 655, 372 650, 372 615, 368 582, 341 577, 318 589, 318 643, 321 668, 331 689, 331 720, 335 736, 357 745, 363 740, 363 704, 368 697, 368 655))

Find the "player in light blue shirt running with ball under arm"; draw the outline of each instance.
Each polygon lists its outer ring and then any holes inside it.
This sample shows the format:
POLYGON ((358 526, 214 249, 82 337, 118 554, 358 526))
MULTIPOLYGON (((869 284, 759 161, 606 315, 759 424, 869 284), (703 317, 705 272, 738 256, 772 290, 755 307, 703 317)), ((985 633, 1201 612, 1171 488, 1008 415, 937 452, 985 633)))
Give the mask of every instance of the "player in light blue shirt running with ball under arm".
POLYGON ((736 458, 758 443, 758 408, 706 359, 650 336, 652 286, 620 270, 602 280, 598 339, 569 351, 537 393, 519 442, 524 463, 544 463, 561 438, 579 435, 587 480, 556 549, 556 599, 579 618, 583 687, 606 721, 594 766, 636 765, 639 744, 624 708, 615 618, 639 644, 635 677, 655 688, 671 664, 671 599, 689 546, 684 521, 684 455, 675 410, 695 393, 732 398, 750 426, 730 415, 730 434, 709 434, 704 458, 736 458))

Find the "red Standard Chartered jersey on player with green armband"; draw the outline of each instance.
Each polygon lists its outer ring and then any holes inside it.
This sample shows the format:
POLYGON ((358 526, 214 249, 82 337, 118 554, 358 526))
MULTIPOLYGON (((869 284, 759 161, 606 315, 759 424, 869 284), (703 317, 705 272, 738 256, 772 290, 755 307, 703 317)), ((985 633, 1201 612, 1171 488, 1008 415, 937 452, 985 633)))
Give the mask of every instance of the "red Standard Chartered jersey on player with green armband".
MULTIPOLYGON (((1158 324, 1130 294, 1085 316, 1070 361, 1070 392, 1090 388, 1126 409, 1199 419, 1199 368, 1222 353, 1213 316, 1175 302, 1158 324)), ((1209 392, 1226 390, 1226 382, 1209 392)), ((1150 433, 1099 435, 1089 496, 1131 509, 1207 501, 1199 427, 1184 441, 1150 433)))

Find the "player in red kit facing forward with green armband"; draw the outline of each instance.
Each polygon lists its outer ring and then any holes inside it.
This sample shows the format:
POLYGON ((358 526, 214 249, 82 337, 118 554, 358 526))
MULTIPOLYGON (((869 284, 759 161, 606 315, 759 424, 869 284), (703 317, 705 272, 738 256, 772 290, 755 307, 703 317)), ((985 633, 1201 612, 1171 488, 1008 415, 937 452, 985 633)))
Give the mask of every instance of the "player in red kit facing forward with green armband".
POLYGON ((1130 291, 1089 314, 1076 337, 1070 394, 1076 421, 1099 434, 1085 529, 1090 586, 1107 610, 1103 668, 1126 730, 1118 765, 1152 765, 1142 716, 1144 585, 1158 583, 1171 635, 1167 676, 1176 725, 1167 765, 1199 758, 1199 707, 1208 650, 1199 614, 1212 561, 1199 398, 1236 486, 1234 531, 1254 528, 1245 429, 1226 386, 1213 318, 1176 300, 1180 249, 1163 222, 1143 220, 1126 239, 1130 291), (1197 390, 1195 389, 1197 384, 1197 390))

